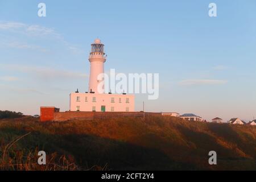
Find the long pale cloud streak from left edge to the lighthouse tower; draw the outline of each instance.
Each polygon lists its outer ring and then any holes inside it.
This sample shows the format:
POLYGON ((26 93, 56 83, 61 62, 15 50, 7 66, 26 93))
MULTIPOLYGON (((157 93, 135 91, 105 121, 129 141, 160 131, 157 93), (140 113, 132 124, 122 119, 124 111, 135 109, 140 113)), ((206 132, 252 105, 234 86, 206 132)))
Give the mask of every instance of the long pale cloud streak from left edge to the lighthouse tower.
POLYGON ((32 67, 18 64, 0 64, 2 68, 9 69, 11 71, 28 73, 32 76, 36 76, 42 80, 67 80, 73 78, 85 78, 84 73, 70 72, 65 70, 59 70, 48 67, 32 67))

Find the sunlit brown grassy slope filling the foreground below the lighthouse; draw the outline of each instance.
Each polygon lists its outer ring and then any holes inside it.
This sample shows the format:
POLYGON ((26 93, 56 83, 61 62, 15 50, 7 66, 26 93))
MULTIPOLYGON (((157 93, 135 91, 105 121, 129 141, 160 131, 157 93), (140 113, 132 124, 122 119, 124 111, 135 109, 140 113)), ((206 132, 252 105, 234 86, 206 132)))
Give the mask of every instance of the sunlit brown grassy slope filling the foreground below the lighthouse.
POLYGON ((256 127, 173 117, 0 119, 0 169, 256 170, 256 127), (46 166, 37 164, 38 150, 46 151, 46 166), (210 166, 212 150, 217 165, 210 166))

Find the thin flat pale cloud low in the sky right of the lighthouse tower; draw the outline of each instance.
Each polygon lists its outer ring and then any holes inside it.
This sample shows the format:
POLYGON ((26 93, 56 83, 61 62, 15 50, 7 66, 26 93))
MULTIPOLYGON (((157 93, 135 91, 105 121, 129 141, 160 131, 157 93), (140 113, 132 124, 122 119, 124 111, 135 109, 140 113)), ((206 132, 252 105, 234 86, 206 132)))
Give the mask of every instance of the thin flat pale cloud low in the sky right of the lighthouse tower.
POLYGON ((179 85, 191 86, 191 85, 220 85, 226 84, 226 80, 208 80, 208 79, 195 79, 195 80, 183 80, 179 82, 179 85))

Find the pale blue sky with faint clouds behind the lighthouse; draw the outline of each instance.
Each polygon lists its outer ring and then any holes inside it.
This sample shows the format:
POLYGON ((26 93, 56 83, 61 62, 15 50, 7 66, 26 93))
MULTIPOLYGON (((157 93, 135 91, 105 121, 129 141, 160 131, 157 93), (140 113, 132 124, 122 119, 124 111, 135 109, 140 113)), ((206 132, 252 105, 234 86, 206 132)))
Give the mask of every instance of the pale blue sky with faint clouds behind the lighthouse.
POLYGON ((105 71, 159 73, 159 99, 135 109, 224 121, 256 117, 256 1, 0 1, 0 110, 68 110, 88 89, 90 44, 105 71), (46 17, 38 3, 46 3, 46 17), (217 17, 208 5, 217 5, 217 17))

